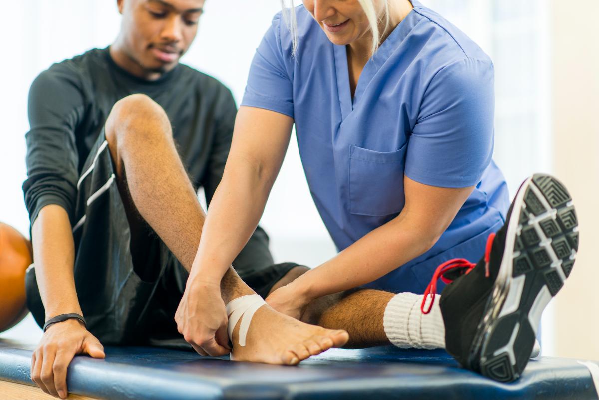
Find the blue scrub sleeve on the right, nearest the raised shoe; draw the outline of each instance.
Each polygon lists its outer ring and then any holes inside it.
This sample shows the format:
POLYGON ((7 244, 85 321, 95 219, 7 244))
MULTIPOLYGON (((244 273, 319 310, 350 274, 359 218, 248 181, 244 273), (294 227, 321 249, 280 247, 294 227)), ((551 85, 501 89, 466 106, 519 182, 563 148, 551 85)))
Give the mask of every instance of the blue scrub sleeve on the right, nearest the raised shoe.
POLYGON ((440 69, 422 99, 405 174, 431 186, 476 185, 491 162, 493 118, 491 62, 467 58, 440 69))

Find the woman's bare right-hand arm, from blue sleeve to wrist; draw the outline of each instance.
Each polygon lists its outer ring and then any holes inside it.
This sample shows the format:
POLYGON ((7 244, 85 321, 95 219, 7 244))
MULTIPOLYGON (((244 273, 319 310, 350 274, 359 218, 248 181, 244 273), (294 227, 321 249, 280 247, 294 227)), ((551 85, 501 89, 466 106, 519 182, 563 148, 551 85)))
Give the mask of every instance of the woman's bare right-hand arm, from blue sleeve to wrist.
POLYGON ((294 281, 299 295, 314 299, 361 286, 422 255, 441 237, 473 186, 443 188, 404 177, 406 204, 336 257, 294 281))

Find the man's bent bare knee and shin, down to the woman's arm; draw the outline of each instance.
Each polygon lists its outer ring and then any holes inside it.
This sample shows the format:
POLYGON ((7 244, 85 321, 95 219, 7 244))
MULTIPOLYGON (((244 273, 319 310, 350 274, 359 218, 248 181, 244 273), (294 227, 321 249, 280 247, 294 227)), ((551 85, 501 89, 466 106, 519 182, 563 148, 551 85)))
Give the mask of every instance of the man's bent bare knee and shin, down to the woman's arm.
POLYGON ((119 189, 124 186, 123 202, 130 198, 133 203, 128 213, 138 211, 189 271, 205 214, 177 153, 167 114, 149 97, 131 95, 114 105, 105 134, 119 189))

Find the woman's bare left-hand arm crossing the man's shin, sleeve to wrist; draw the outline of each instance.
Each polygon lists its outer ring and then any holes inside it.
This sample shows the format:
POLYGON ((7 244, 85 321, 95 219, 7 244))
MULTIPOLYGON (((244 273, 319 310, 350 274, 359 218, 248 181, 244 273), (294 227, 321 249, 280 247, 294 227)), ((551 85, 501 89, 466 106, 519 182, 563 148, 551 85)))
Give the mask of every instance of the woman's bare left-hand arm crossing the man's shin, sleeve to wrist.
POLYGON ((223 178, 202 228, 190 277, 221 278, 256 226, 285 156, 293 120, 260 108, 240 107, 223 178))

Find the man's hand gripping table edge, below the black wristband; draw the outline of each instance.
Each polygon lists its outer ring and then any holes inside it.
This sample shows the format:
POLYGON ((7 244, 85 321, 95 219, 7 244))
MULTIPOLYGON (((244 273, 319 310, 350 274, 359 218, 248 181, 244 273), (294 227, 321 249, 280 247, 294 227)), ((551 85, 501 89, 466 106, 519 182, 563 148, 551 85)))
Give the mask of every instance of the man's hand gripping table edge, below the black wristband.
POLYGON ((50 325, 31 358, 31 379, 44 392, 65 399, 66 369, 75 354, 105 357, 104 346, 79 320, 50 325))

